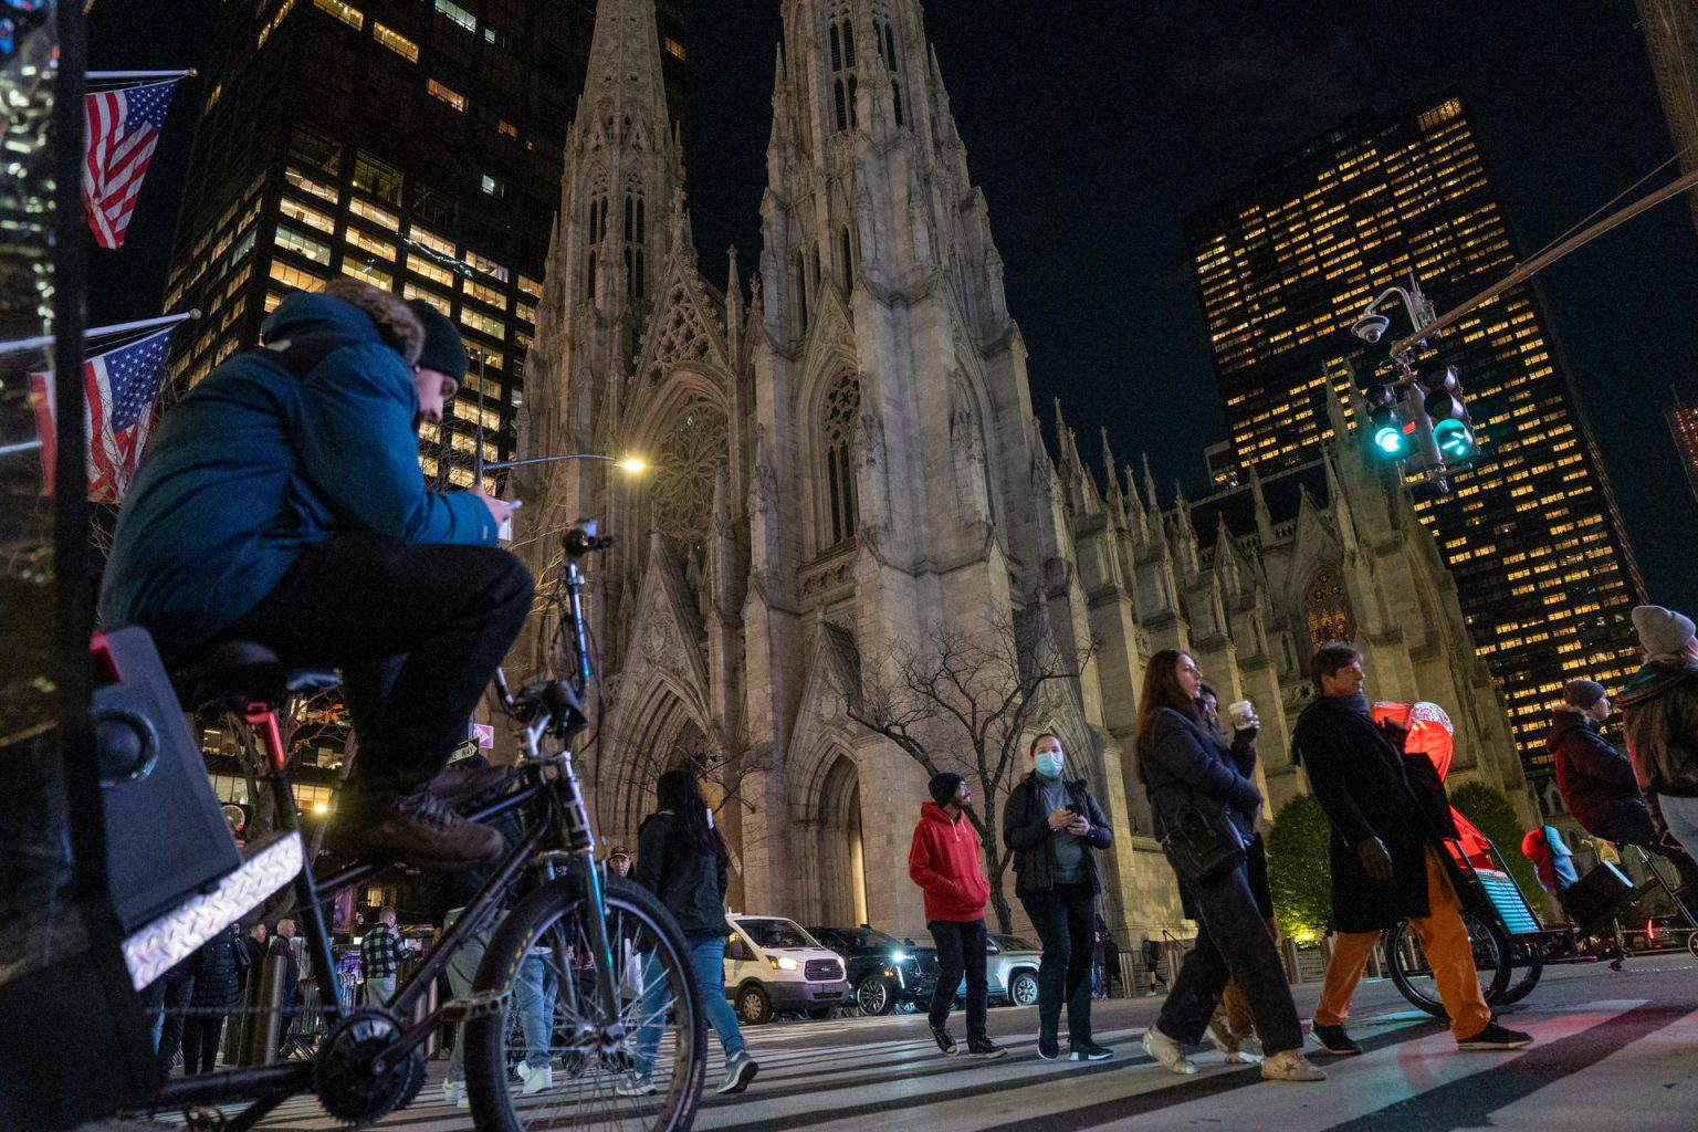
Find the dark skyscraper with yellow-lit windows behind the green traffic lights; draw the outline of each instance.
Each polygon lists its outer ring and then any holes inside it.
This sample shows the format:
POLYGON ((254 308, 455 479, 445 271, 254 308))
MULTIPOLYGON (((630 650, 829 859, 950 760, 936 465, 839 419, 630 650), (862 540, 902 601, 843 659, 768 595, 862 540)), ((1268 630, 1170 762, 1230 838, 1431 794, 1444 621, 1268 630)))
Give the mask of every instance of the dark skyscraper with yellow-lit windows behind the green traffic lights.
MULTIPOLYGON (((1445 311, 1521 258, 1455 93, 1270 158, 1185 227, 1229 443, 1263 472, 1313 458, 1328 399, 1358 412, 1353 365, 1386 355, 1350 334, 1370 299, 1414 277, 1445 311)), ((1387 341, 1408 328, 1394 312, 1387 341)), ((1635 667, 1627 614, 1644 587, 1533 290, 1482 304, 1440 348, 1479 455, 1416 507, 1537 772, 1564 679, 1635 667)))

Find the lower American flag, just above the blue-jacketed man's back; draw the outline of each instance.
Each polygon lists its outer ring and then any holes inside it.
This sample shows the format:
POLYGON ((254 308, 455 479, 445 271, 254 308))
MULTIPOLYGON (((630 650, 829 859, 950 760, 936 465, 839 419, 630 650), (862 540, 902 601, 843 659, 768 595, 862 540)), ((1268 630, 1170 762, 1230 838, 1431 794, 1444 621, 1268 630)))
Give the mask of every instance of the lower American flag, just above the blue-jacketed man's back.
MULTIPOLYGON (((88 402, 83 434, 88 438, 88 501, 119 504, 141 462, 141 450, 153 433, 153 399, 165 380, 165 353, 171 331, 83 361, 83 394, 88 402)), ((36 424, 41 429, 41 458, 53 490, 54 431, 53 373, 31 373, 36 424)))

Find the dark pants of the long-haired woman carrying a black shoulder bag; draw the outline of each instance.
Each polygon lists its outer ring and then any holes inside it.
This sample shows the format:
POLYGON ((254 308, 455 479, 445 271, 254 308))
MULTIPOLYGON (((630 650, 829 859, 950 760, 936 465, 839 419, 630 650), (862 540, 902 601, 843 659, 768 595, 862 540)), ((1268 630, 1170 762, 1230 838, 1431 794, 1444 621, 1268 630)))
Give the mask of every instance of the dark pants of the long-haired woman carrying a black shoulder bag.
POLYGON ((1221 991, 1233 979, 1257 1020, 1262 1049, 1268 1054, 1301 1049, 1302 1023, 1285 967, 1250 893, 1245 866, 1189 894, 1197 910, 1197 944, 1185 955, 1156 1025, 1177 1042, 1200 1042, 1221 991))

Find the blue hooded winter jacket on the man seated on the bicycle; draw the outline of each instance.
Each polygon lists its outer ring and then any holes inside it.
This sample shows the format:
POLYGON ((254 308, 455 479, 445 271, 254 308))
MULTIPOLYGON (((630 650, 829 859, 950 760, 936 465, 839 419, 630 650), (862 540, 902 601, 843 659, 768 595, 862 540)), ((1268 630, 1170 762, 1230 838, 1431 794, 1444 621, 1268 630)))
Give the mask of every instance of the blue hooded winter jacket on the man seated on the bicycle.
POLYGON ((413 373, 363 311, 297 292, 263 326, 268 343, 323 333, 348 345, 304 378, 253 350, 165 414, 119 514, 105 626, 141 625, 180 662, 338 531, 496 545, 475 496, 424 489, 413 373))

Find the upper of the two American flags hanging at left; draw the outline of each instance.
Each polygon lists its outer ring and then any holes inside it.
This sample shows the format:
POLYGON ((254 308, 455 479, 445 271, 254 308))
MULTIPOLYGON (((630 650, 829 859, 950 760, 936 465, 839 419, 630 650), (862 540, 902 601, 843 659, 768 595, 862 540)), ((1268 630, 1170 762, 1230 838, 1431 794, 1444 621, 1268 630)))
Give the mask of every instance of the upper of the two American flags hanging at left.
POLYGON ((160 144, 177 80, 97 90, 85 98, 88 153, 83 156, 83 207, 95 243, 121 248, 141 178, 160 144))

